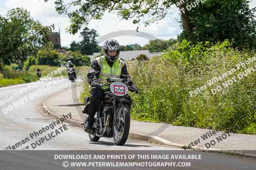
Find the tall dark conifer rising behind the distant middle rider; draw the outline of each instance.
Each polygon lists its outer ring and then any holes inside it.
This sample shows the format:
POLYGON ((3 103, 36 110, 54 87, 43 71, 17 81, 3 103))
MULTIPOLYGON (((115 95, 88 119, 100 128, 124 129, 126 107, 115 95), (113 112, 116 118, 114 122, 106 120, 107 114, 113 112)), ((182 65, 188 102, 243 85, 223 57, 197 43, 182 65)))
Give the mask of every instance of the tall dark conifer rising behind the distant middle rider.
POLYGON ((88 27, 85 27, 80 34, 83 38, 80 42, 82 55, 92 55, 93 52, 99 52, 98 43, 96 41, 96 37, 99 35, 96 30, 90 30, 88 27))

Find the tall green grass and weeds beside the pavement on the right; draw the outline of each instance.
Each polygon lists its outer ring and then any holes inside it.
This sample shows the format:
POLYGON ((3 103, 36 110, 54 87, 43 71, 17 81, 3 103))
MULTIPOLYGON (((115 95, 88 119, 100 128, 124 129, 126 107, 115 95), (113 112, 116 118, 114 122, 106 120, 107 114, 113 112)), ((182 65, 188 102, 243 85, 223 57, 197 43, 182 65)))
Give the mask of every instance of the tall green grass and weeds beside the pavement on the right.
MULTIPOLYGON (((225 80, 208 85, 208 80, 236 68, 236 64, 252 56, 255 53, 247 49, 231 48, 228 41, 195 46, 183 41, 174 49, 166 50, 159 60, 129 62, 128 71, 140 89, 139 94, 130 94, 132 118, 256 134, 256 72, 239 80, 237 74, 244 69, 236 70, 225 80), (224 88, 222 83, 234 76, 237 82, 224 88), (190 97, 190 91, 203 85, 207 87, 204 91, 190 97), (211 89, 217 85, 223 90, 213 95, 211 89)), ((254 64, 256 62, 246 68, 254 64)))

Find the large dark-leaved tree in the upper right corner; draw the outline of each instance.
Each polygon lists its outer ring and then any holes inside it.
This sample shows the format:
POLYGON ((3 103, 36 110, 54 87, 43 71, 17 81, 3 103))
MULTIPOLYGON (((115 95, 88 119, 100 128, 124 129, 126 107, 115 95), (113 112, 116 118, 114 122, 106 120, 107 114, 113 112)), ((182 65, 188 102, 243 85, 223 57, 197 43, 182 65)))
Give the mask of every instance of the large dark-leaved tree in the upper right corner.
POLYGON ((191 28, 186 31, 186 24, 183 22, 179 39, 187 39, 194 44, 234 39, 235 47, 247 45, 255 48, 253 40, 256 35, 256 23, 252 20, 251 11, 249 1, 246 0, 211 0, 199 4, 188 11, 191 28))

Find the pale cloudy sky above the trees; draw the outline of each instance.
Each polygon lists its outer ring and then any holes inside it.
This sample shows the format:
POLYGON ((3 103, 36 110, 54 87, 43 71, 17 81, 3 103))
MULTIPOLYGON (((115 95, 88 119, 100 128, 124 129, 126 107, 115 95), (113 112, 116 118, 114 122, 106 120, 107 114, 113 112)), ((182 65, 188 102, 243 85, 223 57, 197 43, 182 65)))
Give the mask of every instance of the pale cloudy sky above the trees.
MULTIPOLYGON (((66 0, 65 2, 69 2, 66 0)), ((250 9, 256 6, 256 0, 250 3, 250 9)), ((6 15, 7 11, 12 8, 23 7, 30 12, 30 15, 34 20, 38 20, 44 26, 50 26, 54 24, 54 32, 59 32, 61 37, 61 46, 70 47, 72 41, 81 41, 80 32, 75 35, 69 34, 65 31, 65 28, 69 25, 69 17, 65 14, 58 14, 55 10, 54 0, 49 0, 45 3, 43 0, 1 0, 0 1, 0 15, 6 15)), ((68 12, 73 12, 79 10, 78 7, 72 7, 68 12)), ((180 24, 175 20, 179 19, 177 13, 178 8, 172 9, 168 15, 160 20, 158 23, 151 24, 150 26, 144 27, 143 24, 140 25, 139 31, 143 33, 148 33, 156 38, 169 40, 170 38, 177 38, 177 35, 181 33, 180 24)), ((144 18, 146 19, 146 18, 144 18)), ((142 19, 143 20, 143 19, 142 19)), ((132 24, 132 19, 122 20, 114 13, 106 12, 101 20, 92 20, 88 27, 90 29, 95 29, 99 33, 99 37, 107 35, 112 32, 122 31, 122 30, 136 30, 137 25, 132 24)), ((112 37, 115 38, 121 45, 129 45, 138 43, 144 46, 148 39, 124 35, 112 37)), ((102 45, 100 43, 99 45, 102 45)))

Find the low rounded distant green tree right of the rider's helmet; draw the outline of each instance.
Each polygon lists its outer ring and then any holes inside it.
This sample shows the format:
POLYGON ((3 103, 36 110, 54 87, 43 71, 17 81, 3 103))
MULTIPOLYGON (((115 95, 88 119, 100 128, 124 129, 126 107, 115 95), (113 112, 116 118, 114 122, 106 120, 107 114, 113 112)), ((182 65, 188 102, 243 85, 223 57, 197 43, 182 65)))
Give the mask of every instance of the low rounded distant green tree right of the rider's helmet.
POLYGON ((144 45, 143 49, 147 49, 149 52, 161 52, 165 49, 173 46, 177 43, 177 40, 170 39, 170 40, 149 40, 147 44, 144 45))

